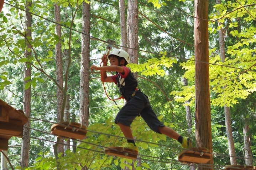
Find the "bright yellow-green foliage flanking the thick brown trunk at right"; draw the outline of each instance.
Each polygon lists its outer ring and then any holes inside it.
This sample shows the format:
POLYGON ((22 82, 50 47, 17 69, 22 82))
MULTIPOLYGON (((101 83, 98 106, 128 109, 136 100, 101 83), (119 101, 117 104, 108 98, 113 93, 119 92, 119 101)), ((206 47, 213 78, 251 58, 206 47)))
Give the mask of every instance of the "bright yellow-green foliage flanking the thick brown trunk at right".
MULTIPOLYGON (((238 2, 231 3, 229 1, 228 4, 215 5, 216 11, 220 14, 217 12, 213 13, 212 18, 218 18, 216 21, 221 23, 226 23, 225 19, 229 21, 229 28, 234 29, 229 32, 230 36, 236 38, 236 41, 226 48, 227 57, 225 62, 221 61, 220 56, 216 53, 218 52, 216 48, 209 50, 210 90, 215 96, 211 99, 211 104, 214 106, 232 107, 234 104, 237 104, 240 98, 245 99, 256 90, 256 74, 254 72, 254 53, 256 51, 254 48, 251 48, 255 44, 256 33, 255 24, 253 24, 253 19, 255 18, 255 13, 253 12, 254 6, 250 1, 244 1, 241 4, 238 2), (236 30, 238 26, 235 24, 237 23, 236 19, 238 17, 249 21, 249 23, 246 22, 243 26, 240 26, 241 29, 239 31, 236 30)), ((218 29, 220 27, 211 28, 210 30, 218 29)), ((194 77, 193 60, 194 58, 192 57, 191 61, 181 64, 187 70, 184 77, 190 80, 194 77)), ((179 96, 176 97, 178 101, 184 102, 193 99, 193 89, 193 85, 184 87, 183 91, 172 92, 172 95, 179 96), (188 94, 189 90, 192 93, 188 94)))

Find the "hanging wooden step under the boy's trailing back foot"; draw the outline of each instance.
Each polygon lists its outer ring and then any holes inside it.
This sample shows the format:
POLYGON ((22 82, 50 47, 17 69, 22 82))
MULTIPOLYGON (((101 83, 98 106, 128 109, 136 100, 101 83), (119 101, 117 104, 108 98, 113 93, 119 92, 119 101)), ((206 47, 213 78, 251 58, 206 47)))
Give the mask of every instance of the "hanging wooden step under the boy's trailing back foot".
POLYGON ((178 160, 183 163, 206 164, 211 159, 211 153, 206 148, 190 148, 178 155, 178 160))

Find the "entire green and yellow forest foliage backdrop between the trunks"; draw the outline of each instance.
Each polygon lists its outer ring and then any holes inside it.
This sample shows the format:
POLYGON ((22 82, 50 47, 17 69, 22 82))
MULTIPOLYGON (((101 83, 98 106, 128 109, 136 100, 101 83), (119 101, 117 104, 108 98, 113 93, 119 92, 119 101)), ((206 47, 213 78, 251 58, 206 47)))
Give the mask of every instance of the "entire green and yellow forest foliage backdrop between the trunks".
MULTIPOLYGON (((32 45, 32 56, 23 58, 25 51, 25 2, 10 1, 8 12, 0 13, 0 97, 16 108, 22 108, 23 81, 30 80, 25 88, 32 87, 31 103, 31 151, 29 167, 26 169, 56 169, 56 159, 52 145, 56 137, 48 131, 51 122, 56 121, 56 78, 55 45, 62 43, 63 52, 70 50, 68 91, 70 96, 71 119, 79 121, 79 71, 80 36, 82 8, 79 1, 35 1, 32 37, 27 37, 32 45), (62 37, 54 32, 52 2, 61 5, 62 37), (17 7, 17 8, 16 8, 17 7), (72 24, 73 23, 73 24, 72 24), (72 38, 70 39, 70 35, 72 38), (23 66, 32 64, 32 76, 23 78, 23 66), (43 121, 33 118, 43 119, 43 121), (51 121, 51 122, 49 122, 51 121), (37 158, 36 158, 37 157, 37 158), (36 158, 36 159, 34 159, 36 158)), ((114 39, 115 47, 120 43, 119 11, 117 1, 90 1, 91 3, 91 63, 100 64, 106 51, 106 39, 114 39)), ((214 162, 219 165, 229 163, 222 106, 233 106, 233 130, 237 156, 242 157, 241 115, 254 118, 255 96, 255 4, 253 1, 227 1, 214 4, 209 21, 209 69, 211 90, 211 119, 214 148, 214 162), (220 26, 217 23, 221 23, 220 26), (226 60, 222 62, 218 50, 217 31, 226 33, 226 60), (224 90, 225 87, 225 90, 224 90), (246 114, 245 112, 246 111, 246 114), (218 154, 219 153, 219 154, 218 154)), ((184 101, 189 101, 194 114, 194 57, 193 57, 193 4, 192 1, 139 1, 139 64, 129 67, 139 73, 139 88, 150 98, 152 108, 159 118, 179 134, 187 135, 184 101), (186 11, 186 12, 185 12, 186 11), (186 61, 186 62, 184 62, 186 61), (183 86, 181 78, 188 79, 183 86), (175 100, 174 100, 175 99, 175 100)), ((30 49, 27 49, 30 50, 30 49)), ((67 58, 64 58, 63 63, 67 58)), ((202 73, 203 74, 203 73, 202 73)), ((108 94, 115 98, 119 94, 115 85, 106 84, 108 94)), ((108 146, 125 142, 113 117, 124 105, 124 101, 106 99, 98 74, 91 74, 90 80, 90 126, 87 139, 79 141, 77 150, 70 149, 64 156, 59 155, 62 169, 124 169, 136 167, 129 159, 111 157, 103 153, 108 146), (107 134, 107 135, 106 135, 107 134), (116 137, 116 136, 121 137, 116 137), (131 165, 127 165, 126 162, 131 165)), ((250 123, 251 131, 255 128, 250 123)), ((194 127, 192 128, 194 131, 194 127)), ((140 118, 132 124, 132 131, 138 140, 142 166, 139 169, 187 169, 175 161, 179 144, 173 139, 151 131, 140 118), (151 160, 152 158, 152 160, 151 160), (166 160, 167 159, 167 160, 166 160), (158 160, 166 160, 159 162, 158 160), (174 163, 173 163, 173 162, 174 163), (169 163, 171 162, 171 163, 169 163)), ((255 133, 252 133, 255 138, 255 133)), ((194 138, 191 136, 192 139, 194 138)), ((21 143, 20 138, 11 138, 10 144, 21 143)), ((255 143, 252 143, 255 152, 255 143)), ((73 144, 72 144, 73 145, 73 144)), ((74 144, 75 145, 75 144, 74 144)), ((20 148, 9 149, 9 155, 20 154, 20 148)), ((11 160, 19 165, 19 156, 11 160)), ((239 163, 243 163, 240 161, 239 163)), ((17 169, 21 169, 17 167, 17 169)))

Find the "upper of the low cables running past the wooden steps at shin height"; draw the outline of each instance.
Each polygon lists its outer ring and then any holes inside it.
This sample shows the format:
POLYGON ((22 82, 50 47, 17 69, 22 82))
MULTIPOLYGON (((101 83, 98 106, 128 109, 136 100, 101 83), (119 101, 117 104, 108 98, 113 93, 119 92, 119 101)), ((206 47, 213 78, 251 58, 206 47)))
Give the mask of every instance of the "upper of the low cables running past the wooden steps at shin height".
MULTIPOLYGON (((47 120, 42 120, 42 119, 37 119, 37 118, 31 118, 31 119, 35 119, 35 120, 39 120, 39 121, 43 121, 43 122, 47 122, 47 123, 52 123, 54 124, 54 122, 51 122, 51 121, 47 121, 47 120)), ((59 125, 64 125, 64 124, 61 124, 61 123, 56 123, 56 124, 59 124, 59 125)), ((66 126, 66 125, 65 125, 66 126)), ((35 129, 36 130, 36 129, 35 129)), ((38 130, 40 131, 40 130, 38 130)), ((117 135, 112 135, 112 134, 106 134, 106 133, 103 133, 103 132, 98 132, 98 131, 93 131, 93 130, 88 130, 86 129, 86 131, 88 132, 92 132, 92 133, 96 133, 96 134, 102 134, 102 135, 106 135, 106 136, 113 136, 113 137, 117 137, 117 138, 125 138, 123 136, 117 136, 117 135)), ((42 131, 42 132, 45 132, 45 131, 42 131)), ((47 134, 50 134, 49 132, 45 132, 47 134)), ((126 139, 126 138, 125 138, 126 139)), ((173 146, 168 146, 168 145, 163 145, 163 144, 159 144, 159 143, 154 143, 154 142, 148 142, 148 141, 143 141, 143 140, 137 140, 137 139, 133 139, 135 141, 139 141, 139 142, 144 142, 144 143, 147 143, 147 144, 152 144, 152 145, 156 145, 156 146, 163 146, 163 147, 168 147, 168 148, 174 148, 174 149, 183 149, 183 148, 178 148, 178 147, 173 147, 173 146)), ((183 150, 188 150, 189 149, 183 149, 183 150)), ((244 157, 237 157, 237 156, 231 156, 231 155, 227 155, 227 154, 221 154, 221 153, 211 153, 212 155, 216 155, 216 156, 222 156, 222 157, 235 157, 237 159, 249 159, 249 158, 244 158, 244 157)), ((252 160, 256 160, 256 159, 252 159, 252 160)))

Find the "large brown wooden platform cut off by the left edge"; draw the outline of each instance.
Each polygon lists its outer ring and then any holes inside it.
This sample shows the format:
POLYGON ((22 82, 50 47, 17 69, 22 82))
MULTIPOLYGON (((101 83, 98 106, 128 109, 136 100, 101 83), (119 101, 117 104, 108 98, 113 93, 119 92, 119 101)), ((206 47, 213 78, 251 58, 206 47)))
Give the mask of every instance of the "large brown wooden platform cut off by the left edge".
POLYGON ((7 151, 10 137, 23 136, 23 125, 27 121, 22 110, 17 110, 0 99, 0 151, 7 151))

